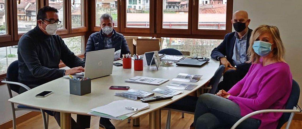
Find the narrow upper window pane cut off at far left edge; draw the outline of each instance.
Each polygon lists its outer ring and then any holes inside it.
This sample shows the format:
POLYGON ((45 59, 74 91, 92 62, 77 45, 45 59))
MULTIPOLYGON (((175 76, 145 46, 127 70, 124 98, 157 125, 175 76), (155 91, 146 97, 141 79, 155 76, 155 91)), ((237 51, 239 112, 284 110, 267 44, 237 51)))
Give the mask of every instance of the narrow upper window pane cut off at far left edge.
POLYGON ((0 0, 0 35, 7 34, 5 0, 0 0))

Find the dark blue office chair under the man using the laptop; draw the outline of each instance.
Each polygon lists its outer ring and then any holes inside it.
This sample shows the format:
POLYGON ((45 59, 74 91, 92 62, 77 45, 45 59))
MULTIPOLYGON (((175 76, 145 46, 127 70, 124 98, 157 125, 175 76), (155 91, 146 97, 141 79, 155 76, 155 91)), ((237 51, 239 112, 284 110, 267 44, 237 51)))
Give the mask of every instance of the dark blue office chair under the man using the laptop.
MULTIPOLYGON (((26 90, 31 90, 31 88, 29 88, 26 85, 18 82, 18 74, 19 74, 18 73, 18 70, 19 70, 18 64, 19 64, 18 60, 12 62, 7 68, 5 80, 1 81, 2 83, 7 84, 9 98, 13 97, 12 93, 11 93, 11 90, 13 90, 14 92, 17 92, 17 93, 19 93, 20 88, 24 88, 26 90)), ((28 107, 28 106, 25 106, 25 105, 18 105, 17 108, 15 108, 14 103, 11 102, 11 110, 12 110, 12 113, 13 113, 13 129, 16 129, 16 114, 15 114, 15 111, 20 111, 20 110, 41 112, 42 113, 42 118, 43 118, 44 129, 48 128, 49 115, 47 114, 45 116, 45 111, 43 109, 36 109, 36 108, 28 107)))

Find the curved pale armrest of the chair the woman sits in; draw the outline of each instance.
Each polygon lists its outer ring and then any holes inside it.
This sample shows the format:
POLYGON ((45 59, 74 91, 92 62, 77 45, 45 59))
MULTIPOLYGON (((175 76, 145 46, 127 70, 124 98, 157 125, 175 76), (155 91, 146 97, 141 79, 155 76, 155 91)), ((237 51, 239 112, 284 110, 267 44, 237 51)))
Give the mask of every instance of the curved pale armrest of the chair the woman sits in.
POLYGON ((244 120, 246 120, 247 118, 253 116, 253 115, 257 115, 260 113, 267 113, 267 112, 300 112, 299 109, 265 109, 265 110, 259 110, 259 111, 255 111, 252 113, 249 113, 248 115, 242 117, 241 119, 239 119, 233 126, 231 129, 235 129, 241 122, 243 122, 244 120))

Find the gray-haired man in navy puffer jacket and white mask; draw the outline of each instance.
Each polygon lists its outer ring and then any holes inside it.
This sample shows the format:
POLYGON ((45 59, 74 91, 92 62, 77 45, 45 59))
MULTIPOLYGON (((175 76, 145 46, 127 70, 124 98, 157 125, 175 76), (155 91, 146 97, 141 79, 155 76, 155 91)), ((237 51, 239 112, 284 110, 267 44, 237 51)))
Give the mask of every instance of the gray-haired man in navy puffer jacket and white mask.
MULTIPOLYGON (((114 23, 110 14, 103 14, 100 18, 101 30, 91 34, 87 41, 86 52, 111 49, 121 50, 120 55, 130 53, 127 41, 124 35, 116 32, 113 27, 114 23)), ((85 58, 84 58, 85 60, 85 58)))

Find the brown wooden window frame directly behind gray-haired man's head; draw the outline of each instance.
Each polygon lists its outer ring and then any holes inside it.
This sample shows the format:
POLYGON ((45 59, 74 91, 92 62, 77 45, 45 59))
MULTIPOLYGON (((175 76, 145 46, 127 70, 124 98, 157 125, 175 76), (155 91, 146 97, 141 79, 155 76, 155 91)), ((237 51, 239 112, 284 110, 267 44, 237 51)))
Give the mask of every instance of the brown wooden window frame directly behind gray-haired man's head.
MULTIPOLYGON (((91 6, 95 7, 95 8, 90 8, 90 13, 91 13, 91 17, 90 17, 90 24, 91 24, 91 31, 100 31, 101 27, 96 26, 96 20, 97 18, 96 16, 96 0, 93 0, 94 2, 91 2, 91 6)), ((117 27, 113 27, 114 30, 116 30, 117 32, 120 32, 120 0, 117 0, 117 27)))

